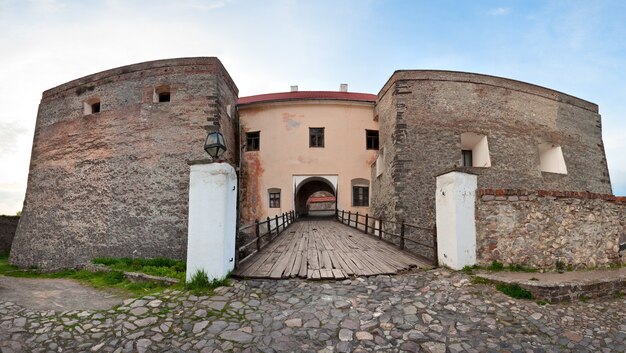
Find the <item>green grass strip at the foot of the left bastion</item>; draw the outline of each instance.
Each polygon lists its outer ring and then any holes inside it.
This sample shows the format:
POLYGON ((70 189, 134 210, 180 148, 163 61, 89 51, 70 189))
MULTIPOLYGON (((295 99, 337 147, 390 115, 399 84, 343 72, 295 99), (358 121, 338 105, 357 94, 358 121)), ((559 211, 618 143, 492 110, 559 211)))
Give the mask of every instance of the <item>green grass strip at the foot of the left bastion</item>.
POLYGON ((146 295, 159 292, 166 288, 183 289, 185 281, 184 262, 170 259, 98 259, 97 263, 107 263, 112 269, 109 272, 91 272, 87 270, 61 270, 55 272, 40 272, 36 269, 23 270, 9 264, 8 255, 0 255, 0 275, 22 278, 69 278, 88 284, 95 288, 112 289, 124 294, 146 295), (130 260, 130 262, 128 261, 130 260), (130 263, 130 265, 127 265, 130 263), (161 266, 169 267, 161 267, 161 266), (182 266, 182 272, 180 271, 182 266), (124 271, 144 272, 156 276, 173 277, 181 284, 167 286, 157 282, 133 283, 124 277, 124 271))

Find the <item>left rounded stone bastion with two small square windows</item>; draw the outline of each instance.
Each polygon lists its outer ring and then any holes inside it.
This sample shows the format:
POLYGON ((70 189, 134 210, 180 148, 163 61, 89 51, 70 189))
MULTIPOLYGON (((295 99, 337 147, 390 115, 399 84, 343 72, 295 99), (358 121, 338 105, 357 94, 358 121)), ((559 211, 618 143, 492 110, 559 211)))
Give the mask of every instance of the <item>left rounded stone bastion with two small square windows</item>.
POLYGON ((237 87, 217 58, 124 66, 44 92, 10 262, 45 269, 101 256, 186 253, 189 160, 220 128, 234 162, 237 87), (155 103, 169 85, 171 100, 155 103), (83 104, 100 99, 100 112, 83 104))

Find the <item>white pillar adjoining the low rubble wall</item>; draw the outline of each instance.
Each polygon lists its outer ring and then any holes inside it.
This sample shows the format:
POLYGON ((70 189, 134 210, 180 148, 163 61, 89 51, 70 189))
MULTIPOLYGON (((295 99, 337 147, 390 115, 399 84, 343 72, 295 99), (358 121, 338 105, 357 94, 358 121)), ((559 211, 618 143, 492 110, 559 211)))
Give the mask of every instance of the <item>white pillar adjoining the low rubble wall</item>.
POLYGON ((454 270, 476 264, 476 175, 450 172, 437 177, 437 257, 454 270))

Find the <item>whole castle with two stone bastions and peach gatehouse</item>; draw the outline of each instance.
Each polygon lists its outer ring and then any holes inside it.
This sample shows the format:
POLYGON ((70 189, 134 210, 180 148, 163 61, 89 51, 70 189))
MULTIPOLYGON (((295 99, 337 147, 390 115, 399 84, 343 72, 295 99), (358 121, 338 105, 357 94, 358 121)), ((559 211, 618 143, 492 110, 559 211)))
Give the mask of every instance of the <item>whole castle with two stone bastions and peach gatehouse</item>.
POLYGON ((561 92, 411 70, 377 95, 239 98, 217 58, 159 60, 43 93, 11 263, 184 258, 188 164, 216 130, 239 171, 242 223, 305 214, 324 192, 337 209, 432 226, 435 176, 451 169, 478 174, 480 190, 611 194, 598 107, 561 92))

